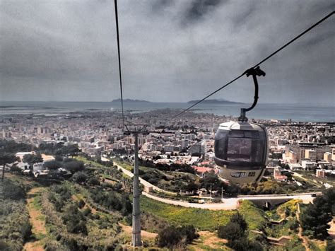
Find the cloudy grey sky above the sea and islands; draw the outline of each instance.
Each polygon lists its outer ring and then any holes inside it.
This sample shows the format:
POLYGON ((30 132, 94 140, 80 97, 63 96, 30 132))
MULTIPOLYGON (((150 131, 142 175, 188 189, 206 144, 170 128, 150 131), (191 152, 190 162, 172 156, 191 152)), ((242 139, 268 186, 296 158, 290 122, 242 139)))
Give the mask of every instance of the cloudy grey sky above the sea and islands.
MULTIPOLYGON (((334 11, 331 0, 119 0, 124 98, 203 98, 334 11)), ((335 15, 261 64, 259 103, 335 106, 335 15)), ((114 1, 0 0, 0 101, 119 98, 114 1)), ((243 76, 213 95, 243 103, 243 76)))

